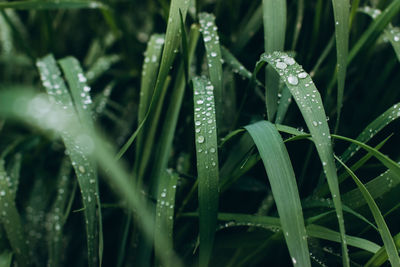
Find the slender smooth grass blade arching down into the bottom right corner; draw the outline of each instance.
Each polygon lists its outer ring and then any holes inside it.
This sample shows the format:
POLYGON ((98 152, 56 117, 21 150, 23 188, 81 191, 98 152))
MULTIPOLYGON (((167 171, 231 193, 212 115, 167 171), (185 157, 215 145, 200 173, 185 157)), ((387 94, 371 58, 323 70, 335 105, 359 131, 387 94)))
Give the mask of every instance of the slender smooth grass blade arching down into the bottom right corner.
POLYGON ((367 202, 369 209, 374 216, 375 222, 378 226, 379 233, 381 235, 383 244, 385 245, 386 252, 389 256, 389 261, 392 266, 400 266, 400 258, 397 252, 396 245, 393 241, 392 235, 390 234, 389 228, 386 225, 385 219, 383 218, 381 211, 379 210, 378 206, 376 205, 374 199, 372 198, 371 194, 368 192, 367 188, 364 184, 358 179, 358 177, 354 174, 354 172, 346 166, 338 157, 336 160, 342 164, 342 166, 346 169, 346 171, 350 174, 353 178, 354 182, 357 184, 358 189, 361 191, 365 201, 367 202))

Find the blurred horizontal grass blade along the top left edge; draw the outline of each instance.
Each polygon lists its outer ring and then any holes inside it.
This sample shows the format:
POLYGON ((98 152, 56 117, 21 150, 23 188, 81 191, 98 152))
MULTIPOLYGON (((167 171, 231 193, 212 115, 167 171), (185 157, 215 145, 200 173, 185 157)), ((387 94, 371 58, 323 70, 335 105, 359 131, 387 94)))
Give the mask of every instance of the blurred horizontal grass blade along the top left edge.
POLYGON ((80 9, 80 8, 106 8, 101 2, 97 1, 43 1, 43 0, 32 0, 32 1, 12 1, 12 2, 0 2, 0 9, 13 8, 13 9, 80 9))

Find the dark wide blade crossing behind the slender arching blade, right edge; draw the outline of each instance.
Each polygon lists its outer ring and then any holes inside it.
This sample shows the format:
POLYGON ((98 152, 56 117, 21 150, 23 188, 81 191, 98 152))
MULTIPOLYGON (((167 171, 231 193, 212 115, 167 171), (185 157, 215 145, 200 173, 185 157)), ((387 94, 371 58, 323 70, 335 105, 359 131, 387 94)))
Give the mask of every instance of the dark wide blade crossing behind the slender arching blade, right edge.
MULTIPOLYGON (((382 197, 387 192, 393 190, 400 184, 398 176, 393 174, 391 170, 387 170, 378 177, 365 184, 368 192, 373 199, 382 197)), ((343 202, 353 209, 359 208, 366 204, 365 199, 359 189, 353 189, 343 195, 343 202)))

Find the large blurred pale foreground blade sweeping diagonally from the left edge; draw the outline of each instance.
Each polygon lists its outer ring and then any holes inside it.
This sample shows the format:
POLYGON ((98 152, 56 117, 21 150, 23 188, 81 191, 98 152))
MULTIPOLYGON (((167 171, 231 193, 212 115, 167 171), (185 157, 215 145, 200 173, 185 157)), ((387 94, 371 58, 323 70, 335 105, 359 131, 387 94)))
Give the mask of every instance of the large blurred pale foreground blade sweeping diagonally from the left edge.
MULTIPOLYGON (((98 161, 103 171, 105 171, 106 182, 113 188, 117 195, 126 201, 129 209, 137 214, 136 218, 141 229, 147 237, 153 240, 154 221, 148 212, 147 203, 141 197, 141 191, 130 182, 130 175, 125 167, 115 160, 115 151, 108 145, 96 132, 90 132, 79 125, 76 116, 71 116, 71 110, 64 110, 63 106, 58 108, 48 101, 44 95, 35 95, 32 91, 26 90, 1 90, 0 92, 0 114, 5 118, 17 119, 34 127, 43 130, 53 130, 60 135, 68 135, 71 139, 79 139, 82 134, 88 135, 88 143, 93 142, 93 151, 88 156, 94 157, 98 161), (18 105, 20 108, 15 109, 18 105), (90 142, 91 141, 91 142, 90 142)), ((89 151, 88 151, 89 152, 89 151)), ((70 155, 71 156, 71 155, 70 155)), ((176 254, 171 252, 167 239, 161 238, 155 244, 161 251, 160 255, 163 263, 173 262, 173 266, 182 266, 176 254), (172 255, 167 257, 166 255, 172 255)))

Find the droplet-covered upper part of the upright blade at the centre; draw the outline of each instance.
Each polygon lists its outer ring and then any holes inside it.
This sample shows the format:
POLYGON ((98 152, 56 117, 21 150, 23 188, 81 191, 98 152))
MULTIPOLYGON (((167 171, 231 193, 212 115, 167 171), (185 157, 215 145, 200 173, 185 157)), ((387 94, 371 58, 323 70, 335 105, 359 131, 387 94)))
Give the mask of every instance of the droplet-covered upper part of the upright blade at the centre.
MULTIPOLYGON (((203 79, 203 78, 202 78, 203 79)), ((199 81, 197 81, 199 82, 199 81)), ((208 155, 206 168, 217 166, 214 86, 207 80, 206 86, 196 86, 194 91, 194 125, 197 153, 208 155), (208 141, 209 140, 209 141, 208 141)))

